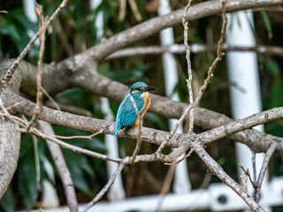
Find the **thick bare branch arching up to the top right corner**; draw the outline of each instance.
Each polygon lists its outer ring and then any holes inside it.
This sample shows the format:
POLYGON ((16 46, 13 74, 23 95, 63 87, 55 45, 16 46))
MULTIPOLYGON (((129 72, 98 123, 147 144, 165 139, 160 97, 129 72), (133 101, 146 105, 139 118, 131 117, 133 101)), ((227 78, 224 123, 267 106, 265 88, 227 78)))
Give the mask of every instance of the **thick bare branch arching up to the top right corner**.
MULTIPOLYGON (((282 0, 231 0, 226 4, 226 11, 242 11, 251 8, 274 6, 282 4, 282 0)), ((213 14, 221 12, 220 1, 208 1, 201 4, 195 4, 187 11, 187 20, 201 19, 213 14)), ((100 61, 104 57, 111 55, 118 49, 122 49, 132 42, 140 41, 152 34, 156 34, 164 28, 172 27, 180 24, 183 9, 173 11, 170 14, 149 19, 142 24, 131 27, 126 31, 112 36, 110 39, 102 42, 87 51, 80 53, 74 57, 66 58, 58 64, 59 69, 77 70, 89 60, 100 61)))

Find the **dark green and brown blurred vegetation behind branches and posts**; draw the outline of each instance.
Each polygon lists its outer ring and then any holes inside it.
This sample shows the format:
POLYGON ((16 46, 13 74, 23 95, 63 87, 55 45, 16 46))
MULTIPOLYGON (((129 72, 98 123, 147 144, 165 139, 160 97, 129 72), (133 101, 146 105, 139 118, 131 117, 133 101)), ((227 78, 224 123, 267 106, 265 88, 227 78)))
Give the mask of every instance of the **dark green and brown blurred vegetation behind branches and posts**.
MULTIPOLYGON (((138 10, 142 15, 142 21, 157 16, 157 0, 135 1, 138 10)), ((203 2, 193 1, 193 4, 203 2)), ((51 15, 56 10, 61 0, 38 1, 42 4, 44 14, 51 15)), ((172 10, 180 9, 187 4, 185 0, 171 1, 172 10)), ((26 46, 30 34, 34 34, 37 23, 27 19, 23 11, 22 1, 0 1, 0 9, 8 13, 0 14, 0 58, 18 57, 19 53, 26 46), (32 32, 32 33, 31 33, 32 32)), ((123 30, 140 23, 134 16, 134 11, 129 5, 126 8, 125 19, 119 17, 119 1, 103 0, 96 11, 91 10, 87 0, 70 0, 67 7, 60 13, 59 18, 52 23, 47 35, 44 62, 59 62, 65 57, 80 53, 99 41, 96 37, 95 19, 98 11, 103 11, 103 31, 106 38, 118 34, 123 30)), ((258 44, 283 46, 283 16, 280 11, 255 11, 255 37, 258 44)), ((221 25, 220 16, 212 16, 189 23, 189 42, 215 44, 218 42, 221 25)), ((183 43, 183 27, 174 27, 176 43, 183 43)), ((159 45, 159 34, 154 34, 140 42, 134 42, 132 47, 159 45)), ((38 58, 38 47, 35 45, 26 60, 36 64, 38 58)), ((271 57, 258 54, 259 72, 263 95, 264 110, 283 105, 283 60, 282 57, 271 57)), ((215 57, 214 51, 206 51, 200 54, 191 54, 192 67, 195 75, 195 87, 203 83, 206 72, 215 57)), ((175 92, 180 95, 182 102, 187 102, 187 63, 185 55, 175 55, 179 67, 179 83, 175 92)), ((164 80, 162 71, 162 58, 160 55, 134 56, 105 60, 98 65, 98 72, 110 79, 117 80, 126 85, 142 80, 149 85, 158 87, 158 95, 164 95, 164 80)), ((214 78, 203 96, 201 106, 231 116, 229 102, 229 81, 226 76, 226 60, 218 65, 214 78)), ((80 88, 66 90, 57 96, 55 100, 64 105, 72 105, 81 109, 89 116, 103 118, 99 96, 90 94, 80 88)), ((119 102, 110 101, 111 109, 116 114, 119 102)), ((144 125, 168 131, 167 119, 156 114, 147 113, 144 125)), ((86 132, 70 129, 64 126, 54 125, 54 130, 59 135, 86 135, 86 132)), ((196 132, 203 129, 196 128, 196 132)), ((283 120, 274 121, 265 125, 266 133, 283 136, 283 120)), ((56 173, 52 180, 45 171, 43 161, 48 160, 56 170, 51 159, 49 149, 44 140, 36 139, 38 154, 41 164, 41 178, 36 180, 34 163, 34 142, 30 134, 23 134, 19 166, 12 183, 1 200, 2 211, 14 211, 15 209, 31 209, 38 206, 41 198, 41 185, 43 180, 49 180, 56 185, 59 194, 60 204, 65 204, 63 187, 56 173)), ((92 140, 67 140, 68 142, 82 148, 88 148, 97 152, 104 152, 104 137, 98 135, 92 140)), ((133 140, 119 139, 121 156, 131 155, 135 142, 133 140)), ((151 153, 157 147, 153 144, 143 143, 142 153, 151 153)), ((237 164, 234 159, 232 140, 221 140, 210 144, 207 147, 210 154, 222 164, 224 169, 233 178, 237 178, 237 164)), ((86 155, 74 153, 68 149, 62 149, 66 163, 71 171, 74 185, 80 202, 86 202, 96 195, 107 182, 105 163, 86 155)), ((196 156, 188 159, 187 168, 193 188, 199 188, 203 184, 205 176, 209 175, 205 164, 196 156)), ((159 193, 164 182, 167 166, 160 163, 138 163, 134 167, 126 168, 123 172, 123 181, 126 189, 126 196, 138 196, 152 193, 159 193)), ((283 167, 280 158, 273 157, 270 166, 270 174, 279 176, 283 174, 283 167)), ((214 176, 208 178, 210 182, 218 182, 214 176)), ((204 185, 205 186, 205 185, 204 185)), ((105 197, 104 197, 105 198, 105 197)))

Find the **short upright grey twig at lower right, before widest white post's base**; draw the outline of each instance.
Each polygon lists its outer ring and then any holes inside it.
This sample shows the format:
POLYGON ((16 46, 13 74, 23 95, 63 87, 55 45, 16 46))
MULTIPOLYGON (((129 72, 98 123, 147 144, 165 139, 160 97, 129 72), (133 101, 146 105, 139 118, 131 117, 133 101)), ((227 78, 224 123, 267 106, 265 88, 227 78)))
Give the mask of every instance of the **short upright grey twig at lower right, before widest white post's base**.
POLYGON ((261 170, 259 172, 259 175, 258 175, 258 178, 257 178, 257 181, 256 181, 256 188, 257 189, 255 189, 255 201, 257 203, 259 202, 260 190, 261 190, 261 187, 263 185, 264 175, 266 173, 268 163, 269 163, 269 161, 270 161, 270 159, 272 157, 272 154, 276 150, 276 148, 277 148, 277 143, 273 142, 272 145, 268 148, 268 150, 265 153, 264 163, 262 165, 262 168, 261 168, 261 170))

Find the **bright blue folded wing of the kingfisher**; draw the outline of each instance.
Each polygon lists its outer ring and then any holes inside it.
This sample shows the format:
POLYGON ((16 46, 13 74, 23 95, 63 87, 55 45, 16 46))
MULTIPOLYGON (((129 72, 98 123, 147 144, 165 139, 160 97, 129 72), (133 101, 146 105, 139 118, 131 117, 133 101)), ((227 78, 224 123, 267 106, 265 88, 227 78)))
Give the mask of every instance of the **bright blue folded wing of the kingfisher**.
MULTIPOLYGON (((140 99, 134 98, 134 101, 136 102, 136 106, 138 110, 142 110, 142 103, 140 99)), ((121 102, 118 110, 118 121, 120 125, 127 126, 132 125, 137 119, 137 114, 134 109, 134 105, 131 102, 131 95, 126 95, 126 98, 123 102, 121 102)))

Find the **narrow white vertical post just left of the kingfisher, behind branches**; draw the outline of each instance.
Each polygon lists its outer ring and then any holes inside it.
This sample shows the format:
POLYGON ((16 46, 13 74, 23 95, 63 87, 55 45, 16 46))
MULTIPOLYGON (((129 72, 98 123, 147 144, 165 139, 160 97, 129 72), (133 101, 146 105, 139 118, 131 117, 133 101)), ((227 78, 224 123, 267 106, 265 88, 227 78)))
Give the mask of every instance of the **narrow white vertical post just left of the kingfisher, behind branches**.
MULTIPOLYGON (((91 0, 90 7, 92 9, 96 9, 99 4, 102 3, 102 0, 91 0)), ((96 39, 103 40, 103 11, 99 11, 96 15, 95 21, 96 27, 96 39)), ((101 100, 101 108, 103 110, 103 115, 107 120, 114 120, 115 117, 112 114, 112 110, 109 105, 109 101, 107 98, 100 98, 101 100)), ((117 137, 112 135, 105 135, 105 144, 108 151, 108 155, 113 157, 119 157, 119 147, 118 147, 118 140, 117 137)), ((118 164, 107 162, 107 173, 108 178, 111 178, 112 174, 117 170, 118 164)), ((111 186, 109 192, 107 193, 108 199, 110 201, 119 201, 125 198, 125 191, 122 183, 121 174, 115 179, 114 184, 111 186)))

